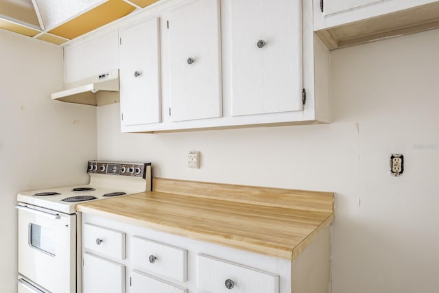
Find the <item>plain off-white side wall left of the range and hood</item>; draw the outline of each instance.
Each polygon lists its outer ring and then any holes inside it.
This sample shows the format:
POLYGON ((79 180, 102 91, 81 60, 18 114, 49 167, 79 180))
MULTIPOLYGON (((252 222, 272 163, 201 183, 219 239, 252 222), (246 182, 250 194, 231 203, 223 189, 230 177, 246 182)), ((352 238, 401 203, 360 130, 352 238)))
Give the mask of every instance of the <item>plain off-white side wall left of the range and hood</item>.
POLYGON ((0 30, 0 292, 16 292, 16 194, 83 184, 97 156, 96 110, 50 99, 62 49, 0 30))

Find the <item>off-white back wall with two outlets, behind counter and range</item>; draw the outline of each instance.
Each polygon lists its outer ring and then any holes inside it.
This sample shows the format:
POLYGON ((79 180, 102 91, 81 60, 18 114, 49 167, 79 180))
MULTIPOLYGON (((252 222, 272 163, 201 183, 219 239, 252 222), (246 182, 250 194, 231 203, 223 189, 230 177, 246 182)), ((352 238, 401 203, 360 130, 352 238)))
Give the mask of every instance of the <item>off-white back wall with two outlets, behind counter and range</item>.
POLYGON ((439 30, 331 52, 329 125, 121 134, 118 105, 104 106, 98 156, 152 161, 165 178, 335 191, 333 293, 437 292, 438 51, 439 30))

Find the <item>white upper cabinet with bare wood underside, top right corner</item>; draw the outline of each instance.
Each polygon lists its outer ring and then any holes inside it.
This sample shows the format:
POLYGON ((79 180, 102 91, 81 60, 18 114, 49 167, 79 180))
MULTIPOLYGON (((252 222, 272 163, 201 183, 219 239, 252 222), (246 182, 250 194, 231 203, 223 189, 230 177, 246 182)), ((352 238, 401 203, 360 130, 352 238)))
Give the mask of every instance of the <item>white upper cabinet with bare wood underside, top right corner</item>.
POLYGON ((438 27, 438 0, 313 0, 313 28, 329 49, 438 27))

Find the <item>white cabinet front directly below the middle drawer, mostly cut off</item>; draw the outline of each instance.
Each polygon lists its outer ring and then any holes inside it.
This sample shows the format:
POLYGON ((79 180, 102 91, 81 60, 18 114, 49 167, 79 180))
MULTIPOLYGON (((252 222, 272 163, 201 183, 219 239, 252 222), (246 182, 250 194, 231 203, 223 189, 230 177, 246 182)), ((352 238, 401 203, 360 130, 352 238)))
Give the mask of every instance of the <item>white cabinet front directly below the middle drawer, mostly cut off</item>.
POLYGON ((187 293, 185 288, 167 281, 143 274, 137 270, 131 272, 131 293, 160 292, 160 293, 187 293))

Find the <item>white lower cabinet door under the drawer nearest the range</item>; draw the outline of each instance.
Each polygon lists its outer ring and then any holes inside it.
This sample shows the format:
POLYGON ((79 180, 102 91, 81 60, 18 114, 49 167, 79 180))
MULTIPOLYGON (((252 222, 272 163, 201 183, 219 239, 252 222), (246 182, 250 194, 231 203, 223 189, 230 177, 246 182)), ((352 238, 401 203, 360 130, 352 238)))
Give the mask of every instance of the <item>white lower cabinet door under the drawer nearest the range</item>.
POLYGON ((82 292, 125 292, 125 267, 123 265, 90 253, 84 253, 83 257, 82 292))

